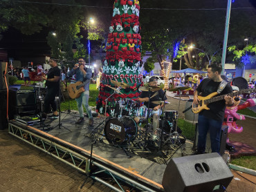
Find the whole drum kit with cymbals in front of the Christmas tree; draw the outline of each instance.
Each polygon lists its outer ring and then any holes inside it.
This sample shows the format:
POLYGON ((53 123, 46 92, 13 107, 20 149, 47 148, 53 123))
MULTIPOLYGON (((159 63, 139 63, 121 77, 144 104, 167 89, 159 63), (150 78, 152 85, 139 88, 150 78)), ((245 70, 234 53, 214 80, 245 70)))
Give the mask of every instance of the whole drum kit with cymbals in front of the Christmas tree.
MULTIPOLYGON (((147 142, 147 129, 150 124, 148 123, 148 119, 152 117, 153 109, 147 108, 145 106, 141 106, 138 99, 129 99, 129 98, 120 98, 113 99, 112 96, 114 94, 122 94, 120 90, 122 88, 128 88, 129 84, 121 83, 118 81, 111 80, 111 83, 118 88, 113 88, 114 92, 110 95, 106 101, 105 106, 105 115, 107 114, 107 108, 109 113, 109 117, 102 122, 104 123, 104 136, 110 144, 114 145, 122 145, 122 144, 130 144, 137 136, 141 136, 143 128, 140 128, 142 123, 147 122, 146 124, 146 134, 144 142, 147 142), (111 101, 109 101, 111 98, 111 101), (139 119, 137 121, 137 119, 139 119)), ((158 95, 157 90, 161 90, 159 86, 141 86, 138 88, 140 91, 148 91, 149 97, 155 97, 158 95), (155 93, 154 93, 155 92, 155 93), (150 93, 154 93, 150 96, 150 93)), ((159 146, 159 150, 161 150, 161 146, 166 144, 167 142, 171 142, 172 144, 178 144, 177 140, 179 140, 179 131, 177 131, 177 121, 178 121, 178 111, 165 111, 165 101, 154 101, 153 104, 163 104, 163 115, 160 117, 158 115, 159 128, 158 128, 158 142, 161 143, 159 146)), ((103 129, 102 128, 102 129, 103 129)), ((102 129, 100 132, 102 132, 102 129)), ((95 131, 93 131, 95 133, 95 131)), ((99 133, 99 132, 98 132, 99 133)), ((144 136, 143 136, 144 137, 144 136)), ((144 144, 145 144, 144 143, 144 144)), ((144 145, 145 146, 145 145, 144 145)))

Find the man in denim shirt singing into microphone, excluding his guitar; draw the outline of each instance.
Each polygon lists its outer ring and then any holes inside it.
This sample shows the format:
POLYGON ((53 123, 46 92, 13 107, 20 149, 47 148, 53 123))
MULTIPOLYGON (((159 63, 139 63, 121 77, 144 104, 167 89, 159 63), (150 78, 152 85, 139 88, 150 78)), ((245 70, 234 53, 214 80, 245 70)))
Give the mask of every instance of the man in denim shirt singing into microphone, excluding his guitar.
POLYGON ((84 123, 84 109, 82 104, 84 104, 84 108, 86 109, 87 114, 89 115, 89 126, 93 125, 93 115, 91 115, 91 108, 89 106, 89 84, 91 80, 92 71, 91 68, 86 68, 84 58, 78 59, 78 64, 75 64, 74 68, 68 72, 68 76, 75 75, 76 82, 82 81, 84 83, 84 92, 77 97, 75 101, 77 102, 78 111, 80 114, 80 118, 75 124, 84 123))

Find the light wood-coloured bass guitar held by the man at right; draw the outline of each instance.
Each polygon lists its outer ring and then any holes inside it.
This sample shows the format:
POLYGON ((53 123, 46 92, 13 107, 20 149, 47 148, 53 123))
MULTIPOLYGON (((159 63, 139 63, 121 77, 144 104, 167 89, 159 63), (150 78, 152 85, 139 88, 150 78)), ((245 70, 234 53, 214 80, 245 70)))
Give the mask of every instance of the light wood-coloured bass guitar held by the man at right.
MULTIPOLYGON (((230 97, 235 97, 235 96, 237 97, 238 95, 241 95, 243 93, 255 93, 255 88, 239 90, 233 93, 228 93, 226 95, 229 95, 230 97)), ((192 104, 193 113, 199 113, 203 109, 210 110, 210 108, 208 108, 207 106, 208 104, 223 100, 224 97, 226 96, 226 95, 220 95, 220 96, 214 97, 215 95, 218 95, 218 93, 214 92, 214 93, 211 93, 210 95, 207 95, 206 97, 198 96, 198 98, 200 99, 199 105, 192 104)))

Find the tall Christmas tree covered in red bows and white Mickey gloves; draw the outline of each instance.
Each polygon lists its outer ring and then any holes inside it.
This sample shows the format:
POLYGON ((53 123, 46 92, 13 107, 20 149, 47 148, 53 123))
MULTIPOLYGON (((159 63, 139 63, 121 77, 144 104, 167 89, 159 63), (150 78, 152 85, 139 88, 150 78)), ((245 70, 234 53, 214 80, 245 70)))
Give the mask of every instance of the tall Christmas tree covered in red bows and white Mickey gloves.
POLYGON ((139 13, 140 3, 137 0, 115 0, 113 3, 107 55, 102 66, 102 83, 97 101, 97 111, 100 113, 104 113, 105 100, 113 93, 112 88, 116 88, 111 80, 128 85, 120 90, 122 94, 114 94, 108 99, 107 113, 118 99, 137 99, 140 95, 138 87, 143 84, 143 66, 140 62, 139 13))

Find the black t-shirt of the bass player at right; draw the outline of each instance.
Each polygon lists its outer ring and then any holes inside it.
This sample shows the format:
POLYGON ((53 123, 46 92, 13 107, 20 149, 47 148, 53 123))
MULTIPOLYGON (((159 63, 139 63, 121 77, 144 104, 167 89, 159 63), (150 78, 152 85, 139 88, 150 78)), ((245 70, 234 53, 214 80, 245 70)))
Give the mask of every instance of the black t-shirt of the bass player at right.
MULTIPOLYGON (((217 92, 219 84, 221 84, 221 82, 216 82, 212 79, 203 79, 203 81, 201 81, 196 90, 199 92, 200 96, 206 97, 211 93, 217 92)), ((221 93, 216 95, 216 97, 228 93, 232 93, 232 87, 230 86, 230 84, 227 84, 226 87, 221 91, 221 93)), ((223 122, 226 108, 226 102, 224 99, 208 104, 208 108, 210 108, 210 110, 203 110, 199 114, 223 122)))

